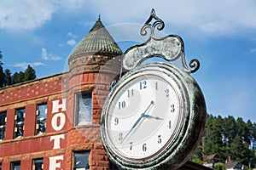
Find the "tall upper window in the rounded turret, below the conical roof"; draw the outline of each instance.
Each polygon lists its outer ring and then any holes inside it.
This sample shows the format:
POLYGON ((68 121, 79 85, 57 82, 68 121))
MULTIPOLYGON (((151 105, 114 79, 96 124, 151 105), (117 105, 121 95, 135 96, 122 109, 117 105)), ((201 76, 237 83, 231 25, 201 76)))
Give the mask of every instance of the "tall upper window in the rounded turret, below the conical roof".
POLYGON ((91 123, 91 93, 80 93, 76 95, 76 125, 91 123))

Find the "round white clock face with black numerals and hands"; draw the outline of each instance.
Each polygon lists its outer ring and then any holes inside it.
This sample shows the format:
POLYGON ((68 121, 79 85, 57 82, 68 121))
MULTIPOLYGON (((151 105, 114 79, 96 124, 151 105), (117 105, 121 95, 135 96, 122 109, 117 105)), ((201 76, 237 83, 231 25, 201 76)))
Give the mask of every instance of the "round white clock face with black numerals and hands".
POLYGON ((128 161, 159 156, 183 124, 183 94, 162 71, 137 72, 115 89, 105 117, 106 140, 128 161))

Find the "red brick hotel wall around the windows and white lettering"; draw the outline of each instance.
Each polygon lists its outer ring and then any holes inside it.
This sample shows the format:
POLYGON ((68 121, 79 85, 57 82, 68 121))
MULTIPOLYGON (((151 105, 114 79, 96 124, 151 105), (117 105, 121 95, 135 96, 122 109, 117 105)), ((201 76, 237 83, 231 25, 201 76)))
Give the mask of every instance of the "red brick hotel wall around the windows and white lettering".
MULTIPOLYGON (((0 89, 0 112, 7 111, 5 140, 0 141, 3 170, 9 170, 11 161, 20 161, 21 170, 32 169, 35 158, 44 158, 44 169, 49 169, 50 161, 55 161, 55 167, 60 166, 57 170, 72 169, 73 151, 79 150, 90 151, 90 169, 108 169, 100 122, 109 83, 119 73, 119 67, 111 64, 103 68, 105 60, 97 57, 82 70, 79 69, 84 66, 73 67, 64 75, 0 89), (75 94, 82 91, 92 93, 92 124, 73 127, 75 94), (53 111, 53 105, 61 105, 65 99, 67 110, 60 107, 53 111), (46 133, 35 135, 37 105, 42 103, 48 105, 46 133), (21 107, 26 108, 24 135, 13 139, 15 109, 21 107), (65 122, 61 124, 63 117, 65 122)), ((118 60, 114 62, 119 63, 118 60)))

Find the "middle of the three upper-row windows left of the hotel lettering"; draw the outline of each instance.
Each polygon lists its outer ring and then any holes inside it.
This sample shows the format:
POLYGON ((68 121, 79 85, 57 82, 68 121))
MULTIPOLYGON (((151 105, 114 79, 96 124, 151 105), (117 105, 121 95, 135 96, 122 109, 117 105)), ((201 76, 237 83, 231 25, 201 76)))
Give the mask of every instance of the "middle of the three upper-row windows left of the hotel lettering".
POLYGON ((15 135, 14 139, 23 136, 24 132, 24 118, 25 118, 25 108, 16 110, 15 113, 15 135))

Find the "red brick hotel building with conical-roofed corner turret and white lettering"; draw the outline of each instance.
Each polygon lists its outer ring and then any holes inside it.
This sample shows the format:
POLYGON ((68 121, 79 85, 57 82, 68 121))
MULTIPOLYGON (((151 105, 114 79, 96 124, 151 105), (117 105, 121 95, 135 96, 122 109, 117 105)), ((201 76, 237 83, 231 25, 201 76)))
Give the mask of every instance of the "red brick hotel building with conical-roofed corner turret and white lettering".
POLYGON ((115 169, 100 122, 121 54, 99 19, 70 55, 69 71, 1 88, 0 170, 115 169))

